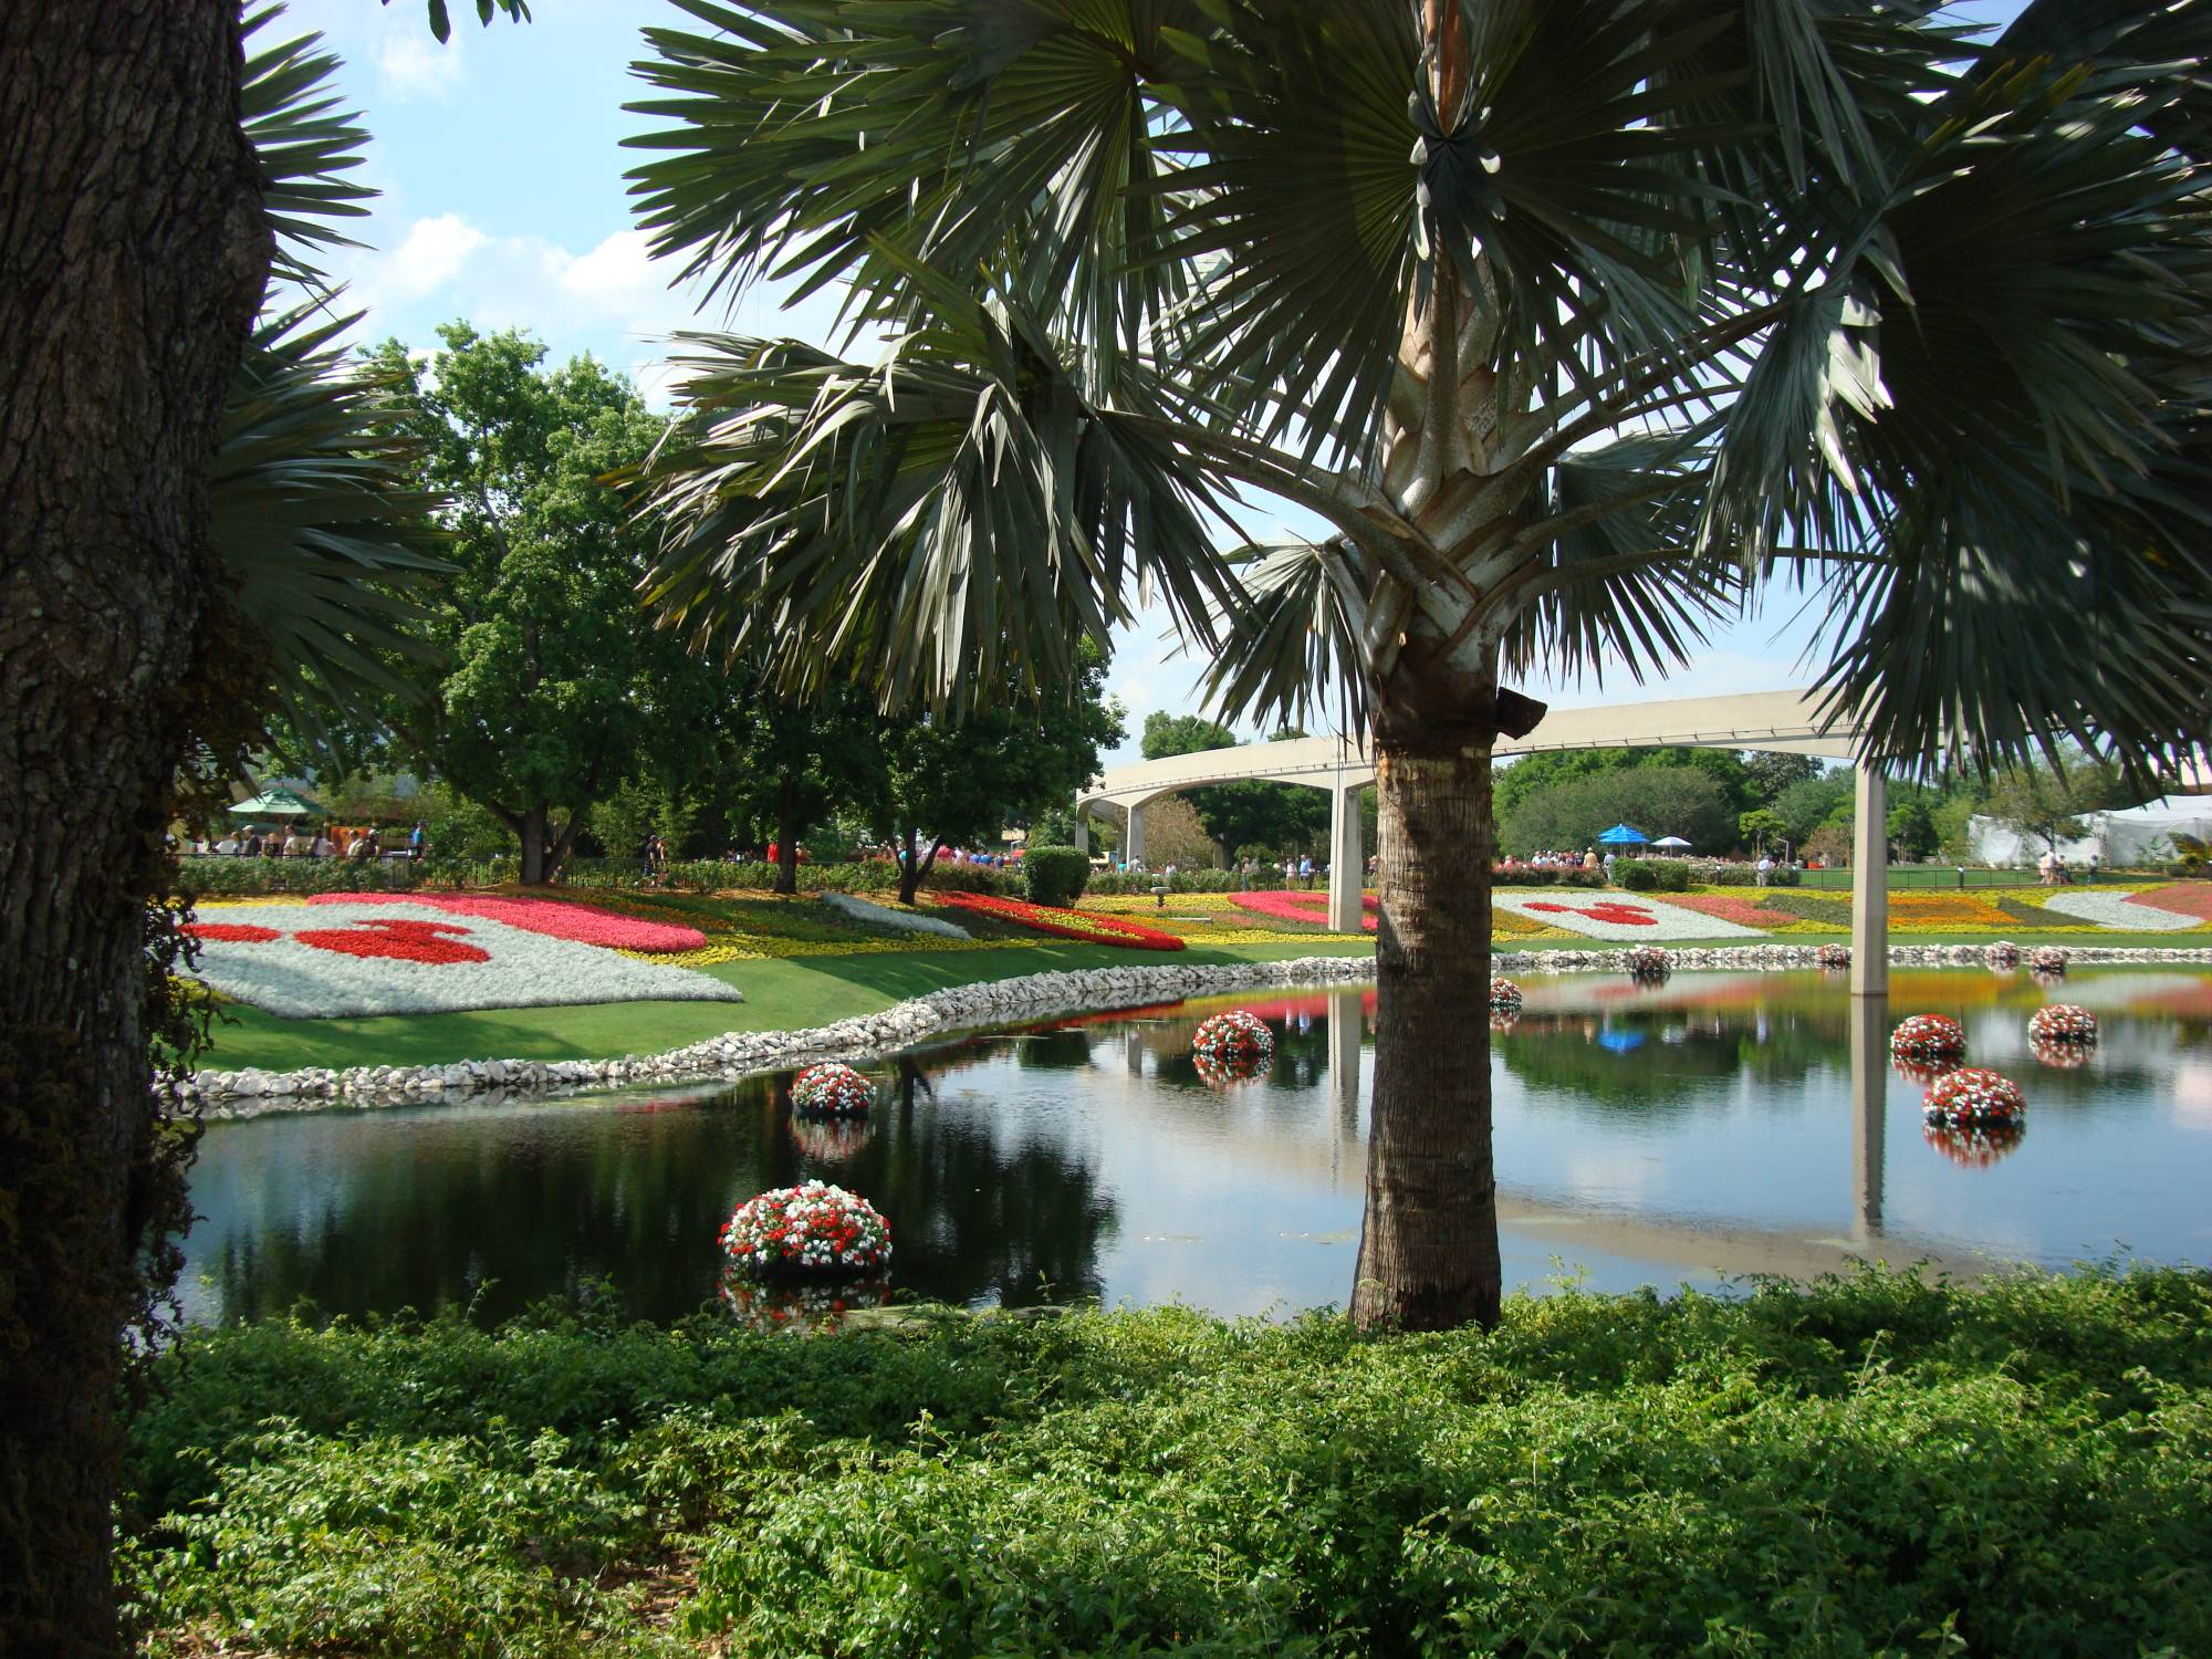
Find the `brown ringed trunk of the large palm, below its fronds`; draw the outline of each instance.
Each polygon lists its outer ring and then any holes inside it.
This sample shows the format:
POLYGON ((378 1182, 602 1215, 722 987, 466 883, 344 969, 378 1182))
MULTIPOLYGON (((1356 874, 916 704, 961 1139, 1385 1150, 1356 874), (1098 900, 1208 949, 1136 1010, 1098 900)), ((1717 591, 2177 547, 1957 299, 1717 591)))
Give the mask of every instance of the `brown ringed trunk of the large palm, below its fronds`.
POLYGON ((1367 1329, 1498 1323, 1491 741, 1458 732, 1376 743, 1380 995, 1352 1290, 1352 1318, 1367 1329))

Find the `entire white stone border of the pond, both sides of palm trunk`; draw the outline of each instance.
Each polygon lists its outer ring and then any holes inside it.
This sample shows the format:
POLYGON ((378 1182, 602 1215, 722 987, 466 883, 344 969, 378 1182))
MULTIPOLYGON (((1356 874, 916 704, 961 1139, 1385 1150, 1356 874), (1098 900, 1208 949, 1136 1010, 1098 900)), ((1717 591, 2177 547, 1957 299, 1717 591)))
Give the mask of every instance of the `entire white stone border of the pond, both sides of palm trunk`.
MULTIPOLYGON (((1778 973, 1818 967, 1818 945, 1668 947, 1677 969, 1756 969, 1778 973)), ((2212 949, 2154 949, 2068 945, 2073 964, 2197 962, 2212 964, 2212 949)), ((1891 945, 1893 967, 1982 967, 1982 945, 1891 945)), ((1624 951, 1495 951, 1498 973, 1619 973, 1624 951)), ((867 1060, 947 1033, 1055 1013, 1133 1009, 1217 991, 1263 984, 1347 984, 1371 980, 1371 956, 1303 956, 1287 962, 1221 967, 1130 967, 1079 973, 1026 973, 1015 980, 953 984, 854 1020, 812 1031, 732 1031, 721 1037, 622 1060, 462 1060, 451 1066, 352 1066, 327 1071, 201 1071, 184 1082, 186 1095, 206 1102, 208 1117, 310 1113, 325 1102, 347 1106, 411 1106, 458 1099, 482 1091, 520 1095, 668 1084, 690 1077, 745 1077, 807 1060, 867 1060)))

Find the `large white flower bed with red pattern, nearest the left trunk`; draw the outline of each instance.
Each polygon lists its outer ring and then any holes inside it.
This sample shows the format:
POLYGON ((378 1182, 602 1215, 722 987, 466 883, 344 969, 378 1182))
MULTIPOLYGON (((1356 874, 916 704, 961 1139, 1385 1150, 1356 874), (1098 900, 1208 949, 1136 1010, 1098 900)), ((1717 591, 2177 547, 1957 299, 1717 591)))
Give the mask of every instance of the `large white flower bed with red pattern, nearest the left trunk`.
POLYGON ((296 1020, 571 1002, 743 1002, 721 980, 429 905, 223 905, 197 978, 296 1020))

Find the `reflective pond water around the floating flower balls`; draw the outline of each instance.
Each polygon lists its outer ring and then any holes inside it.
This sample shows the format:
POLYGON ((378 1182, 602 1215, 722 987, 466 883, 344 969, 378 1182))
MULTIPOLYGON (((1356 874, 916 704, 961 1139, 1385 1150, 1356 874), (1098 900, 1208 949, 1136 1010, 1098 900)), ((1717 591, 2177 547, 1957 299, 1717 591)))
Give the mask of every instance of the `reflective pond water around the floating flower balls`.
MULTIPOLYGON (((2212 1261, 2212 975, 2177 967, 1900 971, 1856 1004, 1820 973, 1526 980, 1493 1055, 1509 1285, 1601 1290, 1814 1274, 1851 1259, 2062 1267, 2212 1261), (2077 1068, 2026 1018, 2104 1026, 2077 1068), (1931 1144, 1887 1064, 1907 1013, 1966 1024, 2017 1077, 2026 1130, 1989 1159, 1931 1144)), ((195 1318, 487 1316, 613 1279, 670 1318, 714 1294, 732 1206, 818 1175, 896 1230, 894 1283, 953 1303, 1181 1298, 1221 1314, 1343 1303, 1358 1245, 1374 991, 1212 998, 1060 1020, 869 1066, 867 1128, 794 1124, 787 1077, 538 1104, 221 1121, 192 1177, 195 1318), (1208 1088, 1221 1006, 1276 1031, 1272 1071, 1208 1088)))

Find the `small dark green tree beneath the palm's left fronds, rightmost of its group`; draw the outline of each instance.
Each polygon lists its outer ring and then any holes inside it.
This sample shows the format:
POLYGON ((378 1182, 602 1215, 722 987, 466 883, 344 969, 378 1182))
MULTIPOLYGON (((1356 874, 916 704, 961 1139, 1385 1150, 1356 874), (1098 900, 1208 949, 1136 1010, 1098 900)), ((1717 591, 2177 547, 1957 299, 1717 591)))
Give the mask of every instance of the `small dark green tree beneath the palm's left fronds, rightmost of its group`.
POLYGON ((1082 653, 1075 701, 1009 697, 964 721, 916 714, 887 734, 889 823, 905 852, 898 898, 911 905, 938 854, 989 841, 1044 812, 1099 770, 1121 741, 1121 708, 1106 697, 1106 655, 1082 653))

